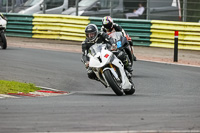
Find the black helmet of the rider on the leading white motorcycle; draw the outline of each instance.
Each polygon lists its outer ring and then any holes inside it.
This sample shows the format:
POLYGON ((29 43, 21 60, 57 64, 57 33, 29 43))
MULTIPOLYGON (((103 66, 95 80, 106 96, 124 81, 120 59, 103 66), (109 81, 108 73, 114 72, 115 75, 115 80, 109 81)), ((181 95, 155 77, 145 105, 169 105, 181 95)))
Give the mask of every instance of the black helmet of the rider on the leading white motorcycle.
POLYGON ((89 41, 94 41, 98 35, 98 28, 95 24, 89 24, 85 28, 85 35, 89 41))

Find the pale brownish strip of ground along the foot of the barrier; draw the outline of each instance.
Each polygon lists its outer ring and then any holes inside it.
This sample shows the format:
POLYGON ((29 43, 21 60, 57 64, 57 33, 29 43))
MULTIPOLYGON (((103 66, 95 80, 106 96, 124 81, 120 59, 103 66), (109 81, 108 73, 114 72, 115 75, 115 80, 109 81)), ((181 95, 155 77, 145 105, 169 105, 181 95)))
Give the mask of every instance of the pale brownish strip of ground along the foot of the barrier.
MULTIPOLYGON (((7 45, 7 50, 9 50, 10 47, 21 47, 75 53, 82 52, 81 42, 78 41, 7 37, 7 45)), ((134 46, 134 54, 137 60, 200 67, 200 51, 195 50, 179 49, 178 62, 174 62, 174 49, 170 48, 134 46)))

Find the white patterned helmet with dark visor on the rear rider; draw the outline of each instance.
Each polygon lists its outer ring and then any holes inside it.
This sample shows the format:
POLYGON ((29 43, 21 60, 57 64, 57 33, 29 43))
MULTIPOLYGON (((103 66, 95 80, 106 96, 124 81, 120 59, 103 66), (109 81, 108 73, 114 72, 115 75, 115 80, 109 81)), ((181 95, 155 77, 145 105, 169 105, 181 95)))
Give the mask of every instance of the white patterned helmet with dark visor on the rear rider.
POLYGON ((113 29, 113 19, 110 16, 105 16, 102 19, 102 25, 107 31, 111 32, 113 29))

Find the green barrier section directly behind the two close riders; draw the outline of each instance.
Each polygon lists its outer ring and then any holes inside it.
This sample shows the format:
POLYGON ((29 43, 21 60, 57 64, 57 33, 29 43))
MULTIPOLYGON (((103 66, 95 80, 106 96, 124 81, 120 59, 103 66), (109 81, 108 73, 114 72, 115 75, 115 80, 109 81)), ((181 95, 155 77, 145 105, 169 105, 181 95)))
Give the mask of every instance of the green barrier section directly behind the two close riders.
MULTIPOLYGON (((133 19, 113 19, 113 21, 122 26, 122 28, 132 38, 134 45, 150 45, 151 21, 133 19)), ((100 29, 102 25, 102 18, 90 17, 90 23, 96 24, 100 29)))

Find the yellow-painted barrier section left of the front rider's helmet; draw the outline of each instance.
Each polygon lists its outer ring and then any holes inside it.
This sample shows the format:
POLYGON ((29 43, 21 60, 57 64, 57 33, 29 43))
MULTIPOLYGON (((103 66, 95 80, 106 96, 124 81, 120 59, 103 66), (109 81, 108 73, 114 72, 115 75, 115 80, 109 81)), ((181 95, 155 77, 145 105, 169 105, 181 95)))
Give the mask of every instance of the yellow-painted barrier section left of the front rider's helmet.
POLYGON ((88 17, 70 15, 34 14, 33 16, 33 38, 83 41, 85 27, 90 22, 88 17))

